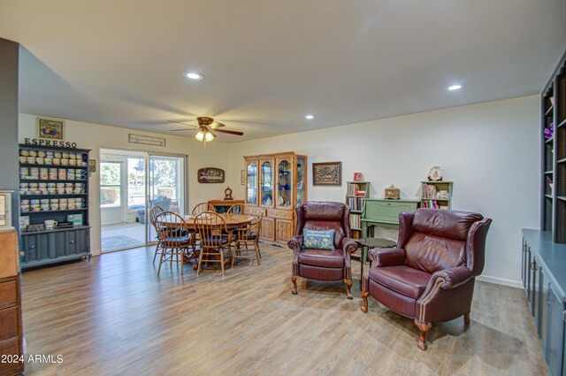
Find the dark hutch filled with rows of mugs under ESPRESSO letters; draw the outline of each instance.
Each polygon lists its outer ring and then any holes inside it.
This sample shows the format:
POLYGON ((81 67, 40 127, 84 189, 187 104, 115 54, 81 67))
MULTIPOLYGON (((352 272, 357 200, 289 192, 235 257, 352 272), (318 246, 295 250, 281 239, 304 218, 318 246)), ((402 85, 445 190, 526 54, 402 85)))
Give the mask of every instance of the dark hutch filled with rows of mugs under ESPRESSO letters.
POLYGON ((90 257, 89 151, 19 145, 22 269, 90 257))

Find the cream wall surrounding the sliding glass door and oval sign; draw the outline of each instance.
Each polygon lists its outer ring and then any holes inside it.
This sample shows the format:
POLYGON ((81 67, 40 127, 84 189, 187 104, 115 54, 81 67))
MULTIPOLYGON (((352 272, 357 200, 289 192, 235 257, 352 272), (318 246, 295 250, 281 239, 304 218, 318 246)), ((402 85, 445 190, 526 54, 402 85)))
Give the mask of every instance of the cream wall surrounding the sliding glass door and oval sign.
MULTIPOLYGON (((25 138, 37 138, 35 115, 19 114, 19 142, 25 138)), ((224 198, 226 184, 200 184, 196 180, 196 173, 202 167, 218 167, 226 171, 226 179, 230 181, 230 171, 227 162, 227 144, 210 142, 206 146, 206 158, 203 142, 194 138, 180 137, 167 134, 154 134, 119 127, 102 126, 99 124, 84 123, 80 121, 65 120, 65 141, 77 142, 80 149, 90 149, 89 157, 100 161, 100 149, 140 150, 153 153, 178 154, 188 156, 188 200, 189 208, 196 203, 211 199, 224 198), (165 147, 149 146, 137 143, 128 143, 128 134, 145 134, 167 139, 165 147)), ((240 179, 240 170, 238 170, 240 179)), ((238 182, 239 184, 240 182, 238 182)), ((93 254, 100 253, 100 211, 98 173, 91 176, 89 184, 89 217, 91 229, 90 246, 93 254)))

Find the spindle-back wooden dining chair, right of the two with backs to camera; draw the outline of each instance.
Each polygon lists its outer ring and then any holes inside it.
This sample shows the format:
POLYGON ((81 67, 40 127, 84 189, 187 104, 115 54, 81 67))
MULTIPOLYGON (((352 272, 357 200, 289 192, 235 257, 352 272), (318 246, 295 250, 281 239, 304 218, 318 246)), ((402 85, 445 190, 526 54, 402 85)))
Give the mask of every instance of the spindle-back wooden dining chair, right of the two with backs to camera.
POLYGON ((201 273, 204 260, 205 265, 220 263, 224 275, 224 265, 233 259, 231 247, 233 231, 228 229, 226 221, 214 211, 198 214, 194 219, 194 226, 201 242, 196 274, 201 273))

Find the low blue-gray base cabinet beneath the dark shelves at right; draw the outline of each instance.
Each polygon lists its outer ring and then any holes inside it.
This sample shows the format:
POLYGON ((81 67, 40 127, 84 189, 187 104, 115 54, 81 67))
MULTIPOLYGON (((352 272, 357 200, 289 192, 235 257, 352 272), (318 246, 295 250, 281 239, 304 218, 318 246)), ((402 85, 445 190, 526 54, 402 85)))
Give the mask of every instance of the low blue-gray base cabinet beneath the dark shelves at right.
POLYGON ((524 291, 552 376, 566 376, 566 244, 550 231, 523 230, 524 291))

